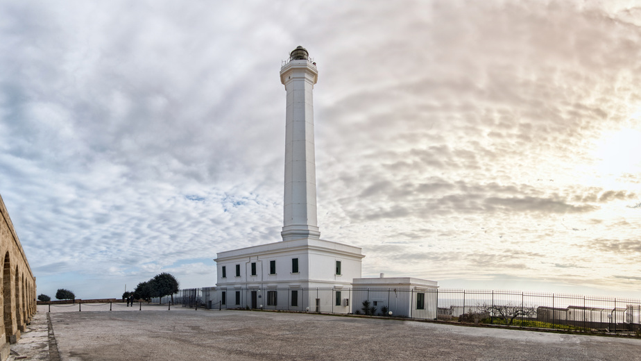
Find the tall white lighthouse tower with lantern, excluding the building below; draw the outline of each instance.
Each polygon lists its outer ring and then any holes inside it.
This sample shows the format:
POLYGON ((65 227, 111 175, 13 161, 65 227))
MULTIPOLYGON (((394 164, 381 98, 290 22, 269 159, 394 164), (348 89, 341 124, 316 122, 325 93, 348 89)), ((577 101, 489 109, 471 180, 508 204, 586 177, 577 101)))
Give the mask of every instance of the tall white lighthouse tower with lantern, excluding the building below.
POLYGON ((283 241, 320 237, 316 217, 316 164, 314 162, 314 103, 318 81, 316 63, 297 47, 280 69, 287 91, 285 115, 285 178, 283 241))

